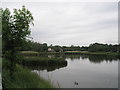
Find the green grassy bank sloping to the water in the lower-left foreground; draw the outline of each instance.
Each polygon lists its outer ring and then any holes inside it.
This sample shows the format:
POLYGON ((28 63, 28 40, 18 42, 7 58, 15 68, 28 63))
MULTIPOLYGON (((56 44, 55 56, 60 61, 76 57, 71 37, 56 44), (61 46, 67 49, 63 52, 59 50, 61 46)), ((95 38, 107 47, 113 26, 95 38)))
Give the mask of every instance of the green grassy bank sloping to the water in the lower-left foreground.
POLYGON ((40 78, 34 72, 20 65, 16 65, 12 79, 9 71, 3 70, 3 86, 6 88, 53 88, 49 81, 40 78))

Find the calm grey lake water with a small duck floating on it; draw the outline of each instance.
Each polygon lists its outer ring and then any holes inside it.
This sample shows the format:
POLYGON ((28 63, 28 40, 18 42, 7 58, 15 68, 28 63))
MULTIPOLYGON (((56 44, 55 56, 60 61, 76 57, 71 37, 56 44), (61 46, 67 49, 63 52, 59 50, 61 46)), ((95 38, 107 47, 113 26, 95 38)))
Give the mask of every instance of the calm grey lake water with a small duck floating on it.
POLYGON ((33 70, 60 88, 117 88, 118 59, 106 56, 65 56, 67 65, 51 71, 33 70))

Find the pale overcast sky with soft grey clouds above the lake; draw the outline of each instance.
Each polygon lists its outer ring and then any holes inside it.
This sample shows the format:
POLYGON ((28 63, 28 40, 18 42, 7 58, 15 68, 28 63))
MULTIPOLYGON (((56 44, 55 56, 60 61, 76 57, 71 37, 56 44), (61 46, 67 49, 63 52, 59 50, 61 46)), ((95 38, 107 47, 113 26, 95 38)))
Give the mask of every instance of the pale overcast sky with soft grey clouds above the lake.
POLYGON ((31 37, 39 43, 61 46, 118 43, 118 2, 50 1, 5 0, 2 7, 12 10, 25 5, 34 17, 31 37))

